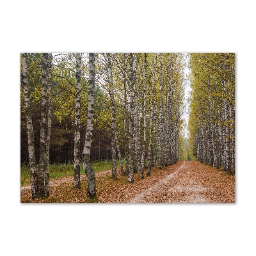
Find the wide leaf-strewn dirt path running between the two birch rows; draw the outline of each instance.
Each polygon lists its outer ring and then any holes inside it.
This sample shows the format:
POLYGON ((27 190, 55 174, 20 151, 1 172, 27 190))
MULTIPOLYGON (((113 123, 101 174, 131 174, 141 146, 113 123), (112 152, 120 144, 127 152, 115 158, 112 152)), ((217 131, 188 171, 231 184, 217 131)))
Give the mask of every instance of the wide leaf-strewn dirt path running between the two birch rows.
POLYGON ((166 175, 128 202, 234 202, 234 189, 234 176, 197 161, 183 161, 175 172, 166 175))

